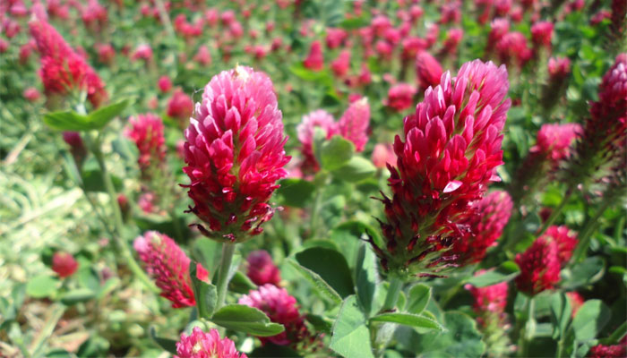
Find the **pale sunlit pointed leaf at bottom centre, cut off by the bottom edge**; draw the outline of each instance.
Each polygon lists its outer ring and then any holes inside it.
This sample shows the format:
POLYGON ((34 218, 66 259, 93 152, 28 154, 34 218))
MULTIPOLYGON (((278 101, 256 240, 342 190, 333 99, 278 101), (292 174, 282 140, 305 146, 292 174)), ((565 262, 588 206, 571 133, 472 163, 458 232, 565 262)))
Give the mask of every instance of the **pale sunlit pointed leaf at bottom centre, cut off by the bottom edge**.
POLYGON ((354 295, 348 296, 339 308, 330 348, 345 357, 374 357, 364 312, 359 310, 354 295))

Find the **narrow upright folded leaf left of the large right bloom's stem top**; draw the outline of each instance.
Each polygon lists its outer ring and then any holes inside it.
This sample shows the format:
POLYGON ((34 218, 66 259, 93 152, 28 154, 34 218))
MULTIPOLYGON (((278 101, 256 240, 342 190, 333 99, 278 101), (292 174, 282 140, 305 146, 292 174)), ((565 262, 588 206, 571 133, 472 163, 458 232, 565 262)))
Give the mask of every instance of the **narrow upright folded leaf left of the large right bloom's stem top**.
POLYGON ((379 277, 377 275, 374 253, 370 247, 366 246, 366 243, 359 245, 355 269, 357 299, 364 308, 366 317, 370 317, 374 311, 373 303, 374 297, 376 297, 379 277))

